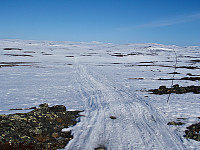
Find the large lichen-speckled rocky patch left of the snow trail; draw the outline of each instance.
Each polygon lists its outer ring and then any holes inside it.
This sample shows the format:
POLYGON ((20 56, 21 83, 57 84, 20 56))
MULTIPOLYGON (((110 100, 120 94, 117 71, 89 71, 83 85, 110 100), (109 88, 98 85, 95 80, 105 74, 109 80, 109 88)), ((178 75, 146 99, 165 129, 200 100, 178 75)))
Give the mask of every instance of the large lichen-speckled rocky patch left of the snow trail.
POLYGON ((63 105, 41 104, 28 113, 0 115, 1 150, 60 149, 73 138, 70 131, 80 111, 66 111, 63 105))

